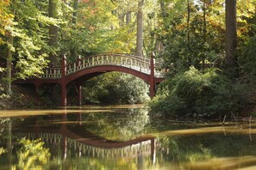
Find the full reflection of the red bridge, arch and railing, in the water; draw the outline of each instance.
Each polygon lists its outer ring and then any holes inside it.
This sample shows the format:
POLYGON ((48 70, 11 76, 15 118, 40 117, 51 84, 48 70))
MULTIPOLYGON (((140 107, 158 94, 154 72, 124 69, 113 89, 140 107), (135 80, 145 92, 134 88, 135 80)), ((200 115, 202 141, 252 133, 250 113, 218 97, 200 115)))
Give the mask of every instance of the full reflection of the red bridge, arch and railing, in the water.
MULTIPOLYGON (((63 118, 65 119, 65 115, 63 118)), ((65 158, 67 150, 73 149, 79 156, 113 159, 151 155, 151 158, 155 159, 154 137, 137 137, 122 142, 109 141, 84 129, 77 131, 76 127, 67 127, 66 124, 61 125, 60 128, 46 127, 40 124, 36 124, 34 128, 17 127, 13 130, 13 135, 30 140, 41 138, 45 143, 61 146, 65 158)))

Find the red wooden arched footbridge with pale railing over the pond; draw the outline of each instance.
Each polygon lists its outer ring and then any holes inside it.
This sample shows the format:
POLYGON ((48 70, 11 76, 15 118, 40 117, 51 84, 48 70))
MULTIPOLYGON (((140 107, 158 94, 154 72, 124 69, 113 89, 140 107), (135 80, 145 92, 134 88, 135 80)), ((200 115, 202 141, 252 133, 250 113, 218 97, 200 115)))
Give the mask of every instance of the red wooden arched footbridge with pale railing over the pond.
POLYGON ((79 58, 76 62, 66 64, 62 58, 60 67, 44 70, 41 77, 30 77, 27 80, 16 80, 16 84, 34 84, 38 91, 42 84, 59 84, 61 86, 61 105, 66 106, 66 94, 70 87, 78 93, 79 105, 82 100, 82 83, 110 71, 119 71, 140 77, 150 86, 150 96, 154 96, 155 85, 164 80, 164 73, 154 58, 143 58, 130 54, 104 53, 88 58, 79 58))

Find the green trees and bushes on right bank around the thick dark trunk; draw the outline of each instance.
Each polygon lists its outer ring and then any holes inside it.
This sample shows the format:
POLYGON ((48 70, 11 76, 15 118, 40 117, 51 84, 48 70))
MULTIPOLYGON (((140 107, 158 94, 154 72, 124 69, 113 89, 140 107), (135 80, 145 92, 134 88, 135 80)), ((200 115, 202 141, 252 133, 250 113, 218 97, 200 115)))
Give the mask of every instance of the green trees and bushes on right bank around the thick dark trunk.
MULTIPOLYGON (((243 83, 255 82, 256 40, 250 38, 243 45, 251 27, 247 21, 254 17, 255 1, 237 2, 237 55, 241 52, 239 59, 243 80, 240 82, 228 80, 218 70, 199 71, 209 67, 222 69, 225 57, 224 2, 203 2, 190 1, 188 18, 187 3, 180 0, 165 1, 155 33, 165 46, 158 57, 164 59, 164 67, 170 70, 167 73, 170 78, 162 84, 160 93, 150 102, 153 112, 164 112, 172 116, 217 117, 228 112, 240 112, 248 106, 249 94, 254 88, 243 83)), ((255 24, 254 19, 250 21, 255 24)))

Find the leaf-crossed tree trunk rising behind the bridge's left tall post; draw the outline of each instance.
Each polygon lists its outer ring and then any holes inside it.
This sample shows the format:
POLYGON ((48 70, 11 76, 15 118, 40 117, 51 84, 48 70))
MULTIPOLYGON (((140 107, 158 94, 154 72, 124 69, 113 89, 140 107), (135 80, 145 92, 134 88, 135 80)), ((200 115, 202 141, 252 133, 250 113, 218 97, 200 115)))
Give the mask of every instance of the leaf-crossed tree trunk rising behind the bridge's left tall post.
MULTIPOLYGON (((49 0, 49 17, 58 18, 58 10, 57 10, 58 0, 49 0)), ((56 47, 58 43, 58 27, 54 25, 50 25, 49 27, 49 46, 52 48, 56 47)), ((55 52, 49 53, 50 64, 57 66, 59 64, 58 56, 55 52)))

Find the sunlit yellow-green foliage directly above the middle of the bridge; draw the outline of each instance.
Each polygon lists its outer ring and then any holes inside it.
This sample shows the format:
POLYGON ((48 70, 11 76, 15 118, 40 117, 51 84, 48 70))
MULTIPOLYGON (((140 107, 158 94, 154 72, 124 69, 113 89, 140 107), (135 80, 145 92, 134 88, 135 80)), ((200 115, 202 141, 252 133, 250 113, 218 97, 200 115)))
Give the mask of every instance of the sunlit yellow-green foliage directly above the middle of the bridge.
POLYGON ((115 10, 108 0, 78 3, 74 22, 66 22, 60 30, 61 53, 66 53, 69 61, 103 52, 130 53, 135 34, 128 26, 118 26, 115 10))

